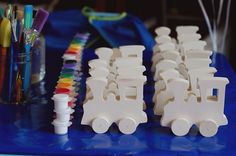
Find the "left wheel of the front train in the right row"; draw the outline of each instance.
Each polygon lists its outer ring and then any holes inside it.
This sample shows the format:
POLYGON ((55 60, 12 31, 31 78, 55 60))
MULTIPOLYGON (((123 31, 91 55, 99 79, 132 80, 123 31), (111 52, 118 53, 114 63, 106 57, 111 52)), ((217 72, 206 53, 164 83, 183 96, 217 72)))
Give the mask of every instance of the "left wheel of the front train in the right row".
POLYGON ((191 124, 187 119, 179 118, 172 122, 171 130, 177 136, 184 136, 189 132, 191 124))

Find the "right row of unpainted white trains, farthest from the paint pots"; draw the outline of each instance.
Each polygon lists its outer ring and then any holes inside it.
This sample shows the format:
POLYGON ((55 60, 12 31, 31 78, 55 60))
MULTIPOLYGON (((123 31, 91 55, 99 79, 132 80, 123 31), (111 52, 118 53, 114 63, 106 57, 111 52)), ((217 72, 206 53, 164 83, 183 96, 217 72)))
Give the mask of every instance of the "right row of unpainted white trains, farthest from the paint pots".
POLYGON ((186 135, 194 124, 203 136, 214 136, 228 123, 224 100, 229 81, 214 77, 216 69, 209 66, 212 52, 204 49, 198 27, 180 26, 176 31, 178 41, 173 41, 169 28, 156 29, 154 113, 162 115, 161 125, 177 136, 186 135))

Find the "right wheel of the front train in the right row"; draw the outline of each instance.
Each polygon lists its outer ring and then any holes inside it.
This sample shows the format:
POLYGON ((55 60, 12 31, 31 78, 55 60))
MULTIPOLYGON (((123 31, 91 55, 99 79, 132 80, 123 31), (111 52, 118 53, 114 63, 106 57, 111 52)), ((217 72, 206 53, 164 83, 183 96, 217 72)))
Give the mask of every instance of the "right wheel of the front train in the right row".
POLYGON ((218 125, 213 120, 205 120, 200 123, 199 131, 205 137, 212 137, 217 133, 218 125))

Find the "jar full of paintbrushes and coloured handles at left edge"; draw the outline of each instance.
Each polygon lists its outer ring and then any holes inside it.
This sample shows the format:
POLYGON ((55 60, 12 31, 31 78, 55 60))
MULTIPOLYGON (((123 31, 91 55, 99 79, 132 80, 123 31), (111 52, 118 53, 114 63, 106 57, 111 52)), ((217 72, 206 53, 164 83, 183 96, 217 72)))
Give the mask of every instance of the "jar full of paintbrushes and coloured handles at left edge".
POLYGON ((19 10, 8 5, 0 20, 0 102, 27 103, 30 100, 32 47, 49 13, 25 5, 19 10))

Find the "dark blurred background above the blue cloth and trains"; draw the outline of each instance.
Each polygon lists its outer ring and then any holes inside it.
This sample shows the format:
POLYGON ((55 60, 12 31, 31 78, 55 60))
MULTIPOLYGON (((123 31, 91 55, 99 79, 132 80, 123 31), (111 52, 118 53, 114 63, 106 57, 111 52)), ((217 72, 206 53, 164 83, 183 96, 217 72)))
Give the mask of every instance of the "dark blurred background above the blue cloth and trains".
MULTIPOLYGON (((227 2, 225 0, 224 2, 227 2)), ((208 29, 197 0, 0 0, 0 2, 40 5, 50 11, 82 9, 90 6, 97 11, 128 12, 139 17, 147 26, 150 33, 158 26, 168 26, 175 30, 177 25, 198 25, 203 38, 208 36, 208 29)), ((211 0, 203 0, 207 13, 212 21, 213 8, 211 0)), ((224 54, 231 65, 236 69, 236 46, 235 42, 235 1, 231 2, 230 21, 228 36, 226 37, 226 48, 224 54)), ((218 9, 219 0, 215 0, 218 9)), ((226 3, 224 3, 220 28, 224 28, 226 14, 226 3)), ((174 31, 173 31, 174 32, 174 31)), ((172 33, 172 36, 175 36, 172 33)), ((219 35, 220 36, 220 35, 219 35)))

